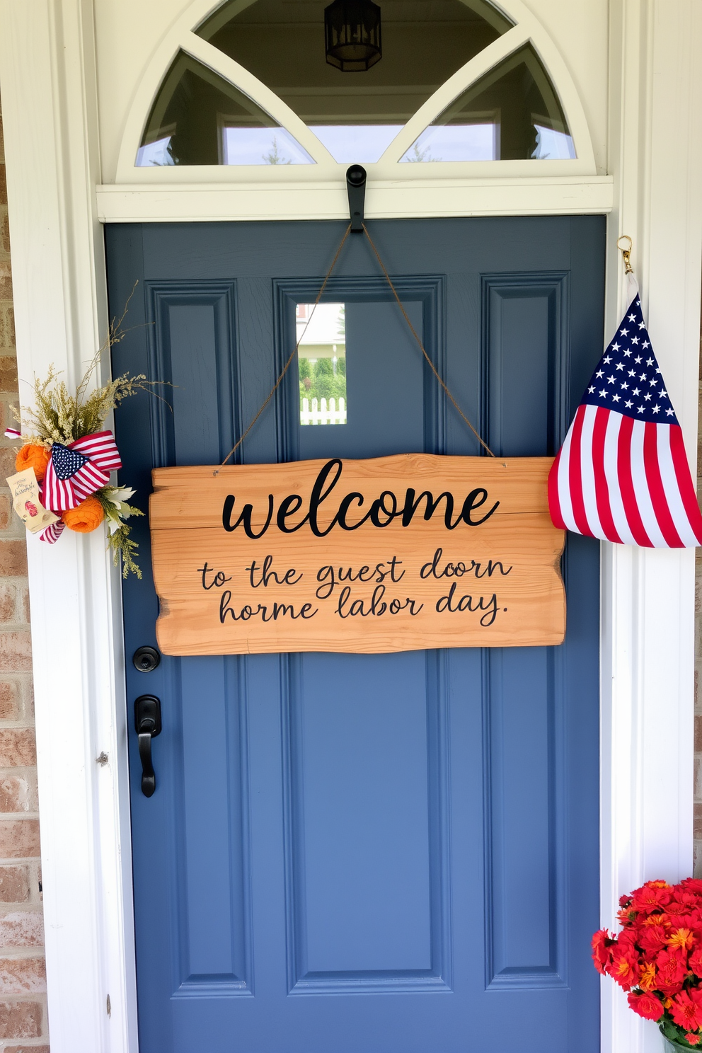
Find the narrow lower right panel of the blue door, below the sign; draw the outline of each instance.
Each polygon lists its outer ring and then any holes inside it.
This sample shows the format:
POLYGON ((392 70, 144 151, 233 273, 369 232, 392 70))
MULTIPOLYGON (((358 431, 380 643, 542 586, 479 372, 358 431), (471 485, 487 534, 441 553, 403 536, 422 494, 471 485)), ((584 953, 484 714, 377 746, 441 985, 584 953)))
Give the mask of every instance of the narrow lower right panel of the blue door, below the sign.
POLYGON ((553 741, 556 650, 505 648, 488 653, 490 986, 564 982, 557 947, 562 905, 557 901, 559 845, 551 809, 558 796, 553 741), (520 793, 520 786, 528 787, 528 794, 520 793))

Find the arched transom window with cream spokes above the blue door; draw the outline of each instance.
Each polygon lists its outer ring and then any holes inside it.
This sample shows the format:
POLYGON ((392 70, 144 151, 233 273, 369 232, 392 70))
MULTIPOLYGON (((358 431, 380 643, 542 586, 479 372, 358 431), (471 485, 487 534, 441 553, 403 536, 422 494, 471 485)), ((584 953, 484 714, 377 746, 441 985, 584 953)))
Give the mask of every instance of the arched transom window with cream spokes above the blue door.
POLYGON ((578 166, 540 51, 533 23, 487 0, 227 0, 183 35, 134 163, 578 166))

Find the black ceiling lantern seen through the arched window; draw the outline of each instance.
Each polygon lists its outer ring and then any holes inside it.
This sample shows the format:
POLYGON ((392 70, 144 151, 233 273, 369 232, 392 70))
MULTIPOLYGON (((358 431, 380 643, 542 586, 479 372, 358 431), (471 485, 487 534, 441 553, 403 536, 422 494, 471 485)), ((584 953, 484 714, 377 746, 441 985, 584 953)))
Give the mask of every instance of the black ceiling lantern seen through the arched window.
POLYGON ((334 0, 324 8, 326 61, 343 73, 369 69, 382 58, 380 7, 372 0, 334 0))

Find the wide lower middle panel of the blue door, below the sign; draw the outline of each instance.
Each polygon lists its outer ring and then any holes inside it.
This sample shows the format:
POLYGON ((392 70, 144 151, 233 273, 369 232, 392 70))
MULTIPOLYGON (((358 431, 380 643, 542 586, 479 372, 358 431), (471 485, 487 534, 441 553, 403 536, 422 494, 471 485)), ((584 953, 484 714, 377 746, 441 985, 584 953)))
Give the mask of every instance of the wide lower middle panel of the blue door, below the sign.
POLYGON ((445 987, 437 656, 289 661, 290 993, 445 987))

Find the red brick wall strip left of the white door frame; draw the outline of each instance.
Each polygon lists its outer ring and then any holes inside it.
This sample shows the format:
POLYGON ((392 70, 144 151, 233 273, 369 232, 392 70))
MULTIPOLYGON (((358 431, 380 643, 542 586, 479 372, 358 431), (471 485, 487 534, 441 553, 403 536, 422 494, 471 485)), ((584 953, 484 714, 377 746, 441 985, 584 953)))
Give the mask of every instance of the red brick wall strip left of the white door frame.
MULTIPOLYGON (((0 436, 17 401, 0 114, 0 436)), ((0 482, 14 471, 0 438, 0 482)), ((48 1053, 32 645, 24 531, 0 488, 0 1049, 48 1053)))

